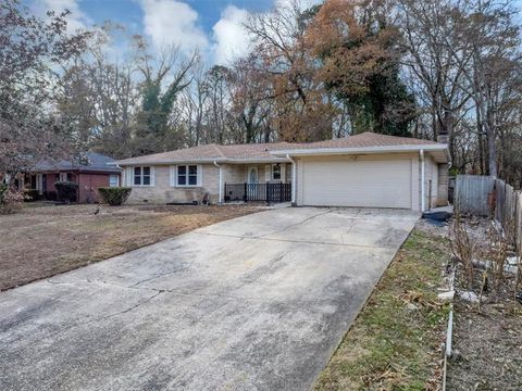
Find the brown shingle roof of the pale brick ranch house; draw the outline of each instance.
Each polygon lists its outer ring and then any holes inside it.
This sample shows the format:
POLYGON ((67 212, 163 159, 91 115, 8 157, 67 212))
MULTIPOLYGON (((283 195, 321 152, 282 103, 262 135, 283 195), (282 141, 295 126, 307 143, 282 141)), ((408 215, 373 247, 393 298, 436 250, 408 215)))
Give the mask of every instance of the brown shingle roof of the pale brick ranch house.
MULTIPOLYGON (((316 148, 365 148, 365 147, 397 147, 397 146, 426 146, 437 144, 434 141, 420 140, 408 137, 396 137, 374 133, 362 133, 345 138, 308 143, 251 143, 232 146, 199 146, 185 148, 176 151, 156 153, 146 156, 130 157, 119 161, 121 165, 169 163, 179 161, 212 161, 212 160, 254 160, 272 159, 276 156, 270 152, 291 149, 316 149, 316 148)), ((281 159, 281 157, 279 157, 281 159)))

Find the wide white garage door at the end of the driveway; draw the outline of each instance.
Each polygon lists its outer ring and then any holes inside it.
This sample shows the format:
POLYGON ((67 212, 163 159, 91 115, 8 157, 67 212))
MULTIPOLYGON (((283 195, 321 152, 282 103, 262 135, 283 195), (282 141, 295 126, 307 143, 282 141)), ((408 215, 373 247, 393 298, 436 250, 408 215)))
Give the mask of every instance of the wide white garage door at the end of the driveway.
POLYGON ((411 209, 411 162, 303 162, 302 204, 411 209))

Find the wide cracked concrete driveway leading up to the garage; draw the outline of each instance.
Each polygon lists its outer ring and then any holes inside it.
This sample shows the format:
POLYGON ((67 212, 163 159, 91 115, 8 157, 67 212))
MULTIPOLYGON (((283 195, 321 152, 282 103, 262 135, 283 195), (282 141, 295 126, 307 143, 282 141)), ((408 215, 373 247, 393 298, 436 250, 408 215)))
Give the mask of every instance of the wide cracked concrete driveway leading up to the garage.
POLYGON ((417 218, 266 211, 2 292, 0 388, 309 389, 417 218))

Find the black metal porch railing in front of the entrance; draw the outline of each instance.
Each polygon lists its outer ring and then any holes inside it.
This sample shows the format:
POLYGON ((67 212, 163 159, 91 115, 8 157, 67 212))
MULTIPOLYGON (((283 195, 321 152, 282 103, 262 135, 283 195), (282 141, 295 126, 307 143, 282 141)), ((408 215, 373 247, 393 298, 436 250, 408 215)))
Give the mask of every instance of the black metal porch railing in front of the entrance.
POLYGON ((291 201, 291 184, 225 184, 225 202, 291 201))

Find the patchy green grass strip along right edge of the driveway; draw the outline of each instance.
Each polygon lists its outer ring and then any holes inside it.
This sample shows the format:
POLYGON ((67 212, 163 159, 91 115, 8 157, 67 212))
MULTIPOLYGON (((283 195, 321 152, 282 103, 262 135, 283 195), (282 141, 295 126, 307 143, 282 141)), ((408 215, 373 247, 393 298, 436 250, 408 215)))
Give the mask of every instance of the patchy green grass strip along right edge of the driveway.
POLYGON ((320 375, 315 390, 435 390, 448 308, 448 242, 414 229, 320 375), (417 310, 408 308, 411 303, 417 310))

